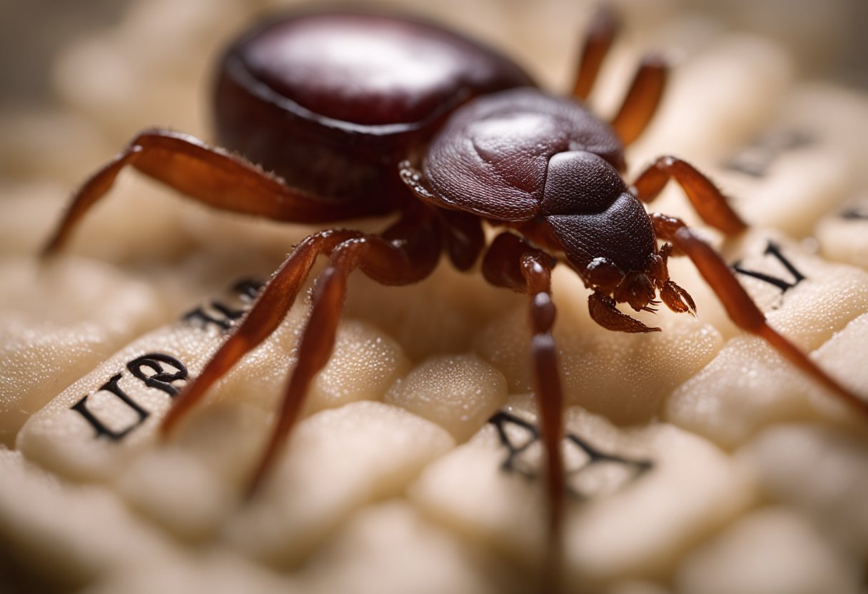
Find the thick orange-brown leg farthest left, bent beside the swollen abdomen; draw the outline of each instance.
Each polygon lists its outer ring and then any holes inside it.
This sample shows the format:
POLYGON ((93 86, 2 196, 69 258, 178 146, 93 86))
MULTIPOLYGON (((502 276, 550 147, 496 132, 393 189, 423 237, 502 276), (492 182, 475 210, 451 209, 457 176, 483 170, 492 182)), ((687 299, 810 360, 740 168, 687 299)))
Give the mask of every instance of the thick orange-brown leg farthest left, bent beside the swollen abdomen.
POLYGON ((290 188, 242 157, 209 147, 194 136, 151 129, 137 135, 85 181, 73 195, 43 254, 55 253, 62 247, 76 223, 109 191, 115 177, 128 165, 214 208, 275 221, 323 223, 378 214, 365 202, 335 204, 290 188))

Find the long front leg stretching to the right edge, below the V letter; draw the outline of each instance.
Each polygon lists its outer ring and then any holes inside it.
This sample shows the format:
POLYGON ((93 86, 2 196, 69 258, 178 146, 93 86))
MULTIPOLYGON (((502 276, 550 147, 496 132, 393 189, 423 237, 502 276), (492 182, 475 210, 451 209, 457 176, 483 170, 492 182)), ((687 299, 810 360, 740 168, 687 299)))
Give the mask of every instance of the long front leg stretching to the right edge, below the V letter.
POLYGON ((705 241, 684 224, 684 221, 665 214, 652 214, 654 231, 665 241, 671 241, 674 247, 680 249, 694 262, 708 285, 712 287, 729 317, 735 324, 747 332, 758 335, 766 340, 778 353, 790 360, 793 365, 817 380, 823 386, 838 394, 850 405, 868 414, 868 401, 860 399, 856 394, 841 386, 817 366, 806 353, 799 350, 779 333, 775 332, 766 322, 766 316, 753 303, 750 295, 741 287, 726 262, 720 254, 714 251, 705 241))

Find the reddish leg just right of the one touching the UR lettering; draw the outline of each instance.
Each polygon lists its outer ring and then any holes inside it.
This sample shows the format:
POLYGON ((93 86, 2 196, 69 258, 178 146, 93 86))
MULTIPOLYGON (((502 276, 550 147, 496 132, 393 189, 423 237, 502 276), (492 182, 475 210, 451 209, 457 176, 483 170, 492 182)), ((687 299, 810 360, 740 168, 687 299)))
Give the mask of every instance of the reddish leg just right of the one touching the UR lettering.
POLYGON ((253 472, 248 496, 253 495, 286 443, 311 381, 332 355, 335 334, 346 296, 346 281, 359 267, 385 285, 407 285, 431 274, 440 254, 440 230, 431 218, 404 218, 383 236, 364 235, 334 248, 312 294, 311 312, 301 334, 298 360, 281 399, 277 423, 260 464, 253 472))

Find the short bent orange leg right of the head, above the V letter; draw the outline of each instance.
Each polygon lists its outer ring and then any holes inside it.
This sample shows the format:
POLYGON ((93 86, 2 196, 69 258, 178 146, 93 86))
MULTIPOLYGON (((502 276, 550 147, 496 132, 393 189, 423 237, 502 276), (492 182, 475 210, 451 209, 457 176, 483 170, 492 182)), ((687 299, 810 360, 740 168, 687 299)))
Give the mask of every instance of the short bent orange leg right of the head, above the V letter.
POLYGON ((728 235, 738 234, 747 228, 713 181, 678 157, 662 156, 642 171, 633 182, 633 194, 643 202, 654 201, 670 179, 678 182, 702 220, 713 228, 728 235))

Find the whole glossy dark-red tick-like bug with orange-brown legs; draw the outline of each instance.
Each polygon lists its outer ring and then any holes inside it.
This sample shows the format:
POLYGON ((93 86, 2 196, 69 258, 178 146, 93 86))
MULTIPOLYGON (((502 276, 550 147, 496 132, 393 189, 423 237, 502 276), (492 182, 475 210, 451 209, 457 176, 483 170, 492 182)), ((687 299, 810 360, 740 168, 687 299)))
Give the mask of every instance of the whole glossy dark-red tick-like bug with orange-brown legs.
POLYGON ((570 96, 540 89, 516 63, 437 25, 365 12, 297 12, 235 41, 220 62, 214 93, 214 148, 190 136, 148 129, 95 172, 73 196, 45 254, 55 253, 89 208, 132 166, 215 208, 278 221, 331 226, 398 214, 379 234, 326 228, 301 241, 220 350, 175 399, 169 432, 222 375, 273 333, 319 255, 317 279, 277 422, 249 491, 266 478, 299 417, 312 379, 325 366, 359 268, 385 285, 431 274, 446 254, 468 270, 529 298, 531 365, 547 459, 548 568, 559 564, 564 507, 562 387, 551 330, 551 273, 570 267, 589 288, 602 327, 654 332, 618 308, 660 302, 693 313, 694 300, 667 272, 686 254, 727 313, 814 380, 868 413, 805 353, 766 324, 720 256, 679 219, 648 214, 669 180, 681 185, 707 224, 725 234, 746 228, 705 175, 671 156, 623 180, 624 147, 654 115, 667 66, 644 58, 621 109, 603 122, 583 105, 616 23, 592 23, 570 96), (241 157, 235 153, 237 151, 241 157), (256 163, 255 165, 253 163, 256 163), (273 171, 274 173, 267 173, 273 171), (498 230, 486 243, 483 225, 498 230))

